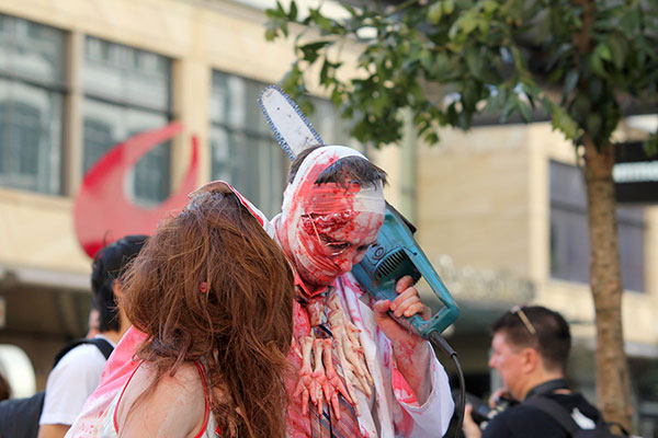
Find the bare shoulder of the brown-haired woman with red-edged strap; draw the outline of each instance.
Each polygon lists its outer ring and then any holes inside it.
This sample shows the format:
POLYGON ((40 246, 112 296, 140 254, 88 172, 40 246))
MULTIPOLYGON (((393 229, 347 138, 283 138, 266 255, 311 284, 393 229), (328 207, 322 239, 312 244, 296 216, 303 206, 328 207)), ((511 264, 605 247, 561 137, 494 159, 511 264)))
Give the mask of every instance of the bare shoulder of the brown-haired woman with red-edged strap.
POLYGON ((203 382, 196 366, 184 362, 173 376, 161 376, 155 390, 139 399, 155 378, 155 369, 143 365, 126 387, 116 411, 120 436, 195 436, 205 415, 203 382))

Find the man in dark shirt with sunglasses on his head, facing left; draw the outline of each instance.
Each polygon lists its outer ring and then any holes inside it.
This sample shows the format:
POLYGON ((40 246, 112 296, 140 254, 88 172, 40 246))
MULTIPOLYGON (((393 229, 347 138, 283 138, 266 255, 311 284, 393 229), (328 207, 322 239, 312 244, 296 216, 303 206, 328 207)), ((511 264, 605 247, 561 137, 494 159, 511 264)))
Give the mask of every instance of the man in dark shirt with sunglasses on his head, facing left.
MULTIPOLYGON (((580 394, 569 390, 565 368, 571 347, 571 334, 565 319, 543 307, 514 308, 492 326, 489 367, 496 369, 506 393, 525 402, 542 395, 571 414, 582 429, 593 429, 600 412, 580 394)), ((483 430, 466 407, 466 438, 567 438, 569 434, 547 413, 530 403, 520 403, 496 415, 483 430)))

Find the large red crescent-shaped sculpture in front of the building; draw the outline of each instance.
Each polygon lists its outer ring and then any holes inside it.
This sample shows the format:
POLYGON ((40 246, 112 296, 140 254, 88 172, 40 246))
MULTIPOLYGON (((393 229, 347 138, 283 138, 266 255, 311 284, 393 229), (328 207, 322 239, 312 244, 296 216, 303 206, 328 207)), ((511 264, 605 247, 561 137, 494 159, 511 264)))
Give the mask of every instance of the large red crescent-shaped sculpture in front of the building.
POLYGON ((190 169, 178 191, 155 208, 144 208, 126 198, 126 173, 149 150, 181 132, 183 125, 171 123, 162 128, 137 134, 114 146, 84 174, 73 205, 76 234, 84 252, 93 257, 104 245, 126 234, 152 234, 168 214, 188 204, 188 194, 196 188, 198 145, 192 136, 190 169))

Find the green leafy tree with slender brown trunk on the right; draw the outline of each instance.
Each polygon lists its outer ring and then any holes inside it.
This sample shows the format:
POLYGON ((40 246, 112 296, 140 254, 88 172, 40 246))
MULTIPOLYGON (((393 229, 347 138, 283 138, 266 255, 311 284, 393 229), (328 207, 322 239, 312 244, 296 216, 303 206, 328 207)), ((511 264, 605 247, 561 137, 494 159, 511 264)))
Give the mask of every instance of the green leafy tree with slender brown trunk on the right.
MULTIPOLYGON (((268 10, 268 39, 295 28, 296 60, 284 89, 298 97, 307 71, 324 87, 352 135, 376 146, 400 139, 400 108, 429 143, 440 129, 468 129, 474 116, 531 122, 544 113, 585 159, 595 307, 597 391, 608 420, 631 426, 623 349, 611 135, 623 105, 655 102, 658 7, 655 0, 363 0, 343 18, 293 0, 268 10), (340 46, 361 43, 359 71, 342 73, 340 46), (315 66, 316 70, 309 70, 315 66), (431 91, 431 92, 428 92, 431 91)), ((299 97, 302 99, 302 97, 299 97)), ((658 149, 658 134, 646 142, 658 149)))

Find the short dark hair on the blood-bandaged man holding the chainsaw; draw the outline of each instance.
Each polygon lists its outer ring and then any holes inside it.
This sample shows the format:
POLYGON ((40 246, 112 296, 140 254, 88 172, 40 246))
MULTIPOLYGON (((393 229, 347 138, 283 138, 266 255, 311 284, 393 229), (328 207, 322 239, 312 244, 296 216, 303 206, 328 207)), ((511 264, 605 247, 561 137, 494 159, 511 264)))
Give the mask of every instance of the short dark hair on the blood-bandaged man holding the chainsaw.
MULTIPOLYGON (((325 146, 314 146, 297 154, 291 164, 288 184, 295 180, 295 175, 306 157, 308 157, 310 152, 324 147, 325 146)), ((388 183, 386 172, 383 169, 379 169, 368 160, 352 155, 341 158, 329 168, 325 169, 315 181, 315 184, 336 183, 347 187, 348 184, 356 182, 363 187, 367 187, 375 185, 378 181, 384 185, 388 183)))

